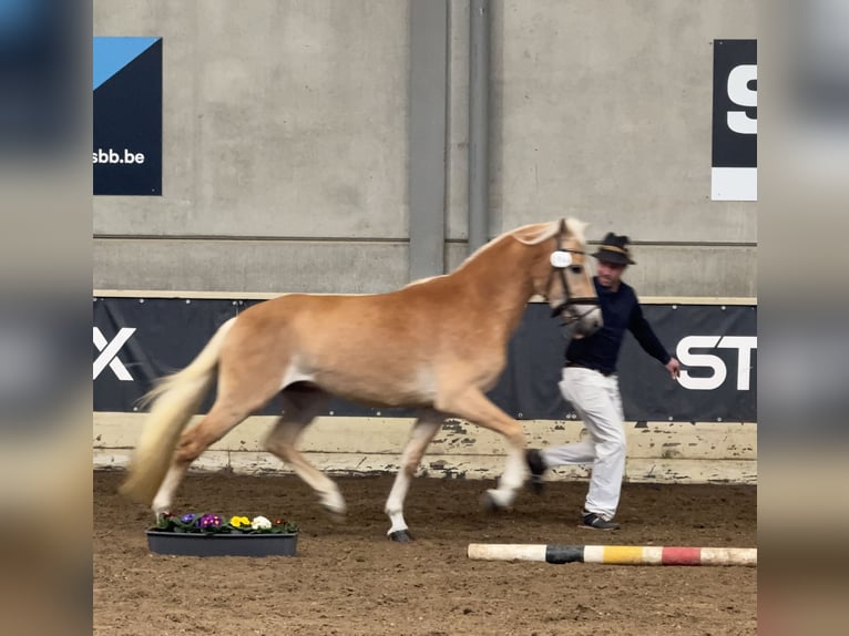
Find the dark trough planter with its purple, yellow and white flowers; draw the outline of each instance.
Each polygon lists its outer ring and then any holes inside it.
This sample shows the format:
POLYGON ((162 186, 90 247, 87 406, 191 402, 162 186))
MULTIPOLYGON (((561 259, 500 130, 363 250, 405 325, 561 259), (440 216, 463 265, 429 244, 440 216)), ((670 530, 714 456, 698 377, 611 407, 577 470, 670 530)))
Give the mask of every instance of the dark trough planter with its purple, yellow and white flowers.
POLYGON ((297 524, 264 516, 166 514, 146 534, 151 552, 183 556, 294 556, 298 544, 297 524))

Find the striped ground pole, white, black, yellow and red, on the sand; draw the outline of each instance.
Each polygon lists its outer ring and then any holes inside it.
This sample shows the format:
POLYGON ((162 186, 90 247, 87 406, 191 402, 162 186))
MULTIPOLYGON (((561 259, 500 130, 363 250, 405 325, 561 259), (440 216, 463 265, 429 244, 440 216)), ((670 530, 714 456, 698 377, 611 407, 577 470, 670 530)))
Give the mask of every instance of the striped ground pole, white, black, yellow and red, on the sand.
POLYGON ((746 565, 756 567, 756 547, 659 547, 653 545, 544 545, 470 543, 469 558, 606 565, 746 565))

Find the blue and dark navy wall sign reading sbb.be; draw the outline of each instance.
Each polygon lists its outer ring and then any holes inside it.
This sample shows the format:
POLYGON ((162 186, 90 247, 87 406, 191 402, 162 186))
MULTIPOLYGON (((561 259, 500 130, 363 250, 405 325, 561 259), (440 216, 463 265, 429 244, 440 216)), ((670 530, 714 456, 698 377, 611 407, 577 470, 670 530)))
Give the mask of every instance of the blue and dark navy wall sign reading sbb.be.
POLYGON ((94 38, 94 194, 162 194, 162 38, 94 38))

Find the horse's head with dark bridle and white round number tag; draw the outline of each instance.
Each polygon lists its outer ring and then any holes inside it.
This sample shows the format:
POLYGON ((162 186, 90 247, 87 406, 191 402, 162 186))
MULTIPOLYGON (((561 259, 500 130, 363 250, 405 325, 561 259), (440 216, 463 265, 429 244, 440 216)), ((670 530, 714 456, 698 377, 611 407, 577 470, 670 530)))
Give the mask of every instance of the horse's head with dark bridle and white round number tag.
MULTIPOLYGON (((562 219, 553 238, 553 250, 534 276, 536 294, 544 296, 552 315, 562 315, 574 326, 573 338, 583 338, 602 327, 602 311, 586 268, 584 228, 586 224, 562 219)), ((552 242, 545 242, 551 245, 552 242)))

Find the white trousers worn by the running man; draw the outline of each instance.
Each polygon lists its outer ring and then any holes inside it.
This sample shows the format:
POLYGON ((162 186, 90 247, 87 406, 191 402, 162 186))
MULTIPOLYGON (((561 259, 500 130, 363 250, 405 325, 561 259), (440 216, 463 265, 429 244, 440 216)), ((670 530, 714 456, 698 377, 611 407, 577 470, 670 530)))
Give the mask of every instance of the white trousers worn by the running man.
POLYGON ((592 369, 565 367, 560 391, 571 403, 590 433, 589 439, 541 451, 548 468, 561 464, 592 464, 587 512, 605 519, 616 514, 625 473, 625 428, 615 375, 602 376, 592 369))

